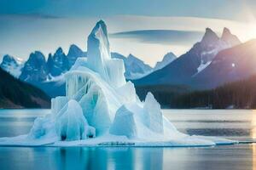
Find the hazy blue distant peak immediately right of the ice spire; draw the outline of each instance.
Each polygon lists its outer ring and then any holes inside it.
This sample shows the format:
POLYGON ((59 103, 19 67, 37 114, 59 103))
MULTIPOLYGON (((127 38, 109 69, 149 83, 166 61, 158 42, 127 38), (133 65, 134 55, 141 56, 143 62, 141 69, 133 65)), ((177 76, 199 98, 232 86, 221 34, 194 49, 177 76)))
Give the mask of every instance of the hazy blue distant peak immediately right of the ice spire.
POLYGON ((132 54, 125 57, 122 54, 112 53, 113 58, 123 59, 125 64, 125 78, 134 80, 148 75, 153 69, 132 54))

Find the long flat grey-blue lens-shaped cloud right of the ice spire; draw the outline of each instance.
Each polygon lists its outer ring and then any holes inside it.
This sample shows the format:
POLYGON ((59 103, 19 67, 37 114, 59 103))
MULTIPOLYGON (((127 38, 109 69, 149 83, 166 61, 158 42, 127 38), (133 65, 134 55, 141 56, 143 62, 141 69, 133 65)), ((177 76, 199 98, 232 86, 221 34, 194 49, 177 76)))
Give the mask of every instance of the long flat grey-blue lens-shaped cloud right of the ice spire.
POLYGON ((111 38, 129 38, 138 42, 170 44, 170 45, 191 45, 201 39, 202 31, 178 31, 178 30, 139 30, 122 31, 110 34, 111 38))

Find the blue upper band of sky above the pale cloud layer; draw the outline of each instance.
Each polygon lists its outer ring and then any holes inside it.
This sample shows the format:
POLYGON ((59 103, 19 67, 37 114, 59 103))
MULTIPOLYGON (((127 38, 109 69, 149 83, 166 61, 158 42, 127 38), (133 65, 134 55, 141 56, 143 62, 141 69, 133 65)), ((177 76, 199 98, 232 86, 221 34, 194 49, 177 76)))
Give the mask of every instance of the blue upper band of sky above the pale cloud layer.
POLYGON ((255 0, 1 0, 0 14, 42 13, 75 17, 131 14, 245 20, 241 11, 248 7, 256 14, 255 5, 255 0))

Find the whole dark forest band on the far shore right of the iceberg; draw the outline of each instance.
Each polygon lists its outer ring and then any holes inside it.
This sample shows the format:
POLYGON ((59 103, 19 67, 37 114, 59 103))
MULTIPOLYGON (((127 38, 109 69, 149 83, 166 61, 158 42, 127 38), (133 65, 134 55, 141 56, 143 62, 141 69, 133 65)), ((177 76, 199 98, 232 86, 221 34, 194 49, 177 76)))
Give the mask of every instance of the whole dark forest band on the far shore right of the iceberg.
MULTIPOLYGON (((140 91, 141 88, 137 88, 137 91, 140 91)), ((158 88, 160 87, 151 87, 151 92, 165 107, 178 109, 207 107, 212 109, 256 109, 256 76, 205 91, 191 91, 189 88, 177 87, 158 88), (183 89, 186 90, 183 91, 183 89)), ((149 88, 145 87, 143 90, 150 91, 149 88)), ((143 99, 143 95, 138 94, 143 99)))

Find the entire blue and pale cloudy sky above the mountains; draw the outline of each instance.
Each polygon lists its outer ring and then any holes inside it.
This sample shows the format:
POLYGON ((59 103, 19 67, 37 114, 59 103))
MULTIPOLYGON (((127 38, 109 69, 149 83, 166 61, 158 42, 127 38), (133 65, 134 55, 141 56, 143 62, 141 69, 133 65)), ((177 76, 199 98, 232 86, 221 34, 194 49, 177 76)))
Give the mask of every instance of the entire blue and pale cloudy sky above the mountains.
POLYGON ((254 0, 1 0, 0 55, 27 59, 74 43, 86 50, 97 20, 108 26, 113 52, 134 54, 149 65, 164 54, 185 53, 207 27, 224 27, 242 42, 256 38, 254 0))

